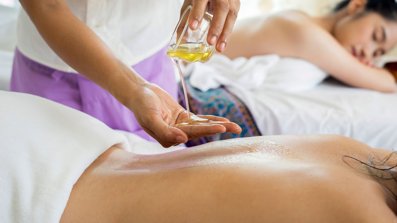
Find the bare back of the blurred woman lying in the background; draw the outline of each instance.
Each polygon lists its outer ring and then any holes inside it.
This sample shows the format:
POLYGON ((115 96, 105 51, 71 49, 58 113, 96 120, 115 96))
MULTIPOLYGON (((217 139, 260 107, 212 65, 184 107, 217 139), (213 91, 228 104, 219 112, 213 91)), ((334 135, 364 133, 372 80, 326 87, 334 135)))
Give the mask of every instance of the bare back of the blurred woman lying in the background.
POLYGON ((301 58, 302 50, 316 41, 318 32, 324 31, 313 18, 299 11, 247 18, 236 24, 223 54, 231 59, 264 54, 301 58), (252 42, 255 42, 254 48, 252 42))

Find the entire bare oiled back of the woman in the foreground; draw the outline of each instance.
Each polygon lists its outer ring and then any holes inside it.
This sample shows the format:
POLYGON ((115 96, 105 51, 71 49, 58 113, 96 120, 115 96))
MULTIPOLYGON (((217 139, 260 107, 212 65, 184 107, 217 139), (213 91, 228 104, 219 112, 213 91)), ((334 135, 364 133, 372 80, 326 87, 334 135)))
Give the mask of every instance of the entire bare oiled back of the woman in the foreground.
POLYGON ((387 191, 362 165, 341 160, 369 152, 386 151, 333 135, 261 136, 150 156, 110 148, 73 187, 61 222, 393 222, 387 191))

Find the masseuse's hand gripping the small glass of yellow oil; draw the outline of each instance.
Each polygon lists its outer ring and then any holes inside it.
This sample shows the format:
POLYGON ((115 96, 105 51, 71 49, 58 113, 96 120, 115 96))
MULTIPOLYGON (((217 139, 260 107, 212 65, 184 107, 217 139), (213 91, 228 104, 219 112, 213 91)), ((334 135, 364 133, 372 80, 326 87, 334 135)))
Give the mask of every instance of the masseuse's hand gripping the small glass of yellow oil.
POLYGON ((214 15, 207 42, 210 45, 216 44, 216 50, 223 52, 230 40, 231 31, 240 10, 240 0, 185 0, 181 14, 189 5, 193 6, 189 19, 189 27, 193 30, 200 26, 206 10, 214 15))

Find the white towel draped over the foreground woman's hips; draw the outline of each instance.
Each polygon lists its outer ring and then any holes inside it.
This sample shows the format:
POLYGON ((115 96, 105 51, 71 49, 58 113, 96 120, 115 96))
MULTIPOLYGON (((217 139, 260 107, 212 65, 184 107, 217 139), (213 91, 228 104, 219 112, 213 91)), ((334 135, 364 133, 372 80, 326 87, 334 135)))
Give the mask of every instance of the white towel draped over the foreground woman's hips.
POLYGON ((50 100, 0 91, 0 222, 59 222, 72 186, 125 136, 50 100))

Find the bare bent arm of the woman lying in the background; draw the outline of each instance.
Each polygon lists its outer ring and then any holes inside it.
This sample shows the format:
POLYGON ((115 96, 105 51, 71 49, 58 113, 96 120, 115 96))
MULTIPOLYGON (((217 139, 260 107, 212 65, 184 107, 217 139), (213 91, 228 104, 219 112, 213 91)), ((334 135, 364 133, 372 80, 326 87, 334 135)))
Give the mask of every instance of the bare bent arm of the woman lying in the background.
POLYGON ((389 71, 361 63, 323 29, 302 26, 297 27, 299 42, 291 56, 308 60, 353 87, 395 92, 396 80, 389 71))

